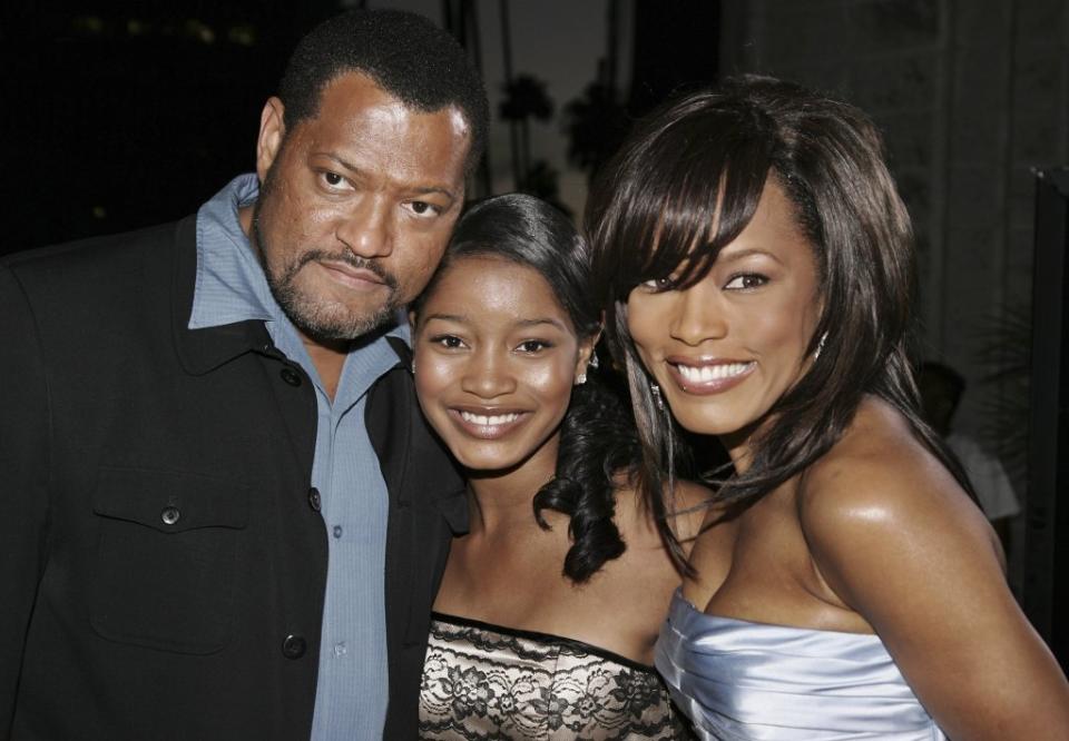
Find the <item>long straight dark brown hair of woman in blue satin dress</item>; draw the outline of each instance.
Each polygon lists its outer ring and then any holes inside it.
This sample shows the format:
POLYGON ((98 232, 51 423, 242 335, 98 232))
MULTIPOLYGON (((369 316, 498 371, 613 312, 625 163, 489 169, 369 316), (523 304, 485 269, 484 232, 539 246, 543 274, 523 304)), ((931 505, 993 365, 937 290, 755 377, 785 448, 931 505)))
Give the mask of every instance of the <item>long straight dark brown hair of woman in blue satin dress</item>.
POLYGON ((794 206, 813 247, 823 314, 807 352, 821 352, 769 409, 749 468, 719 482, 717 501, 745 507, 804 471, 841 437, 862 397, 895 407, 971 491, 960 466, 918 412, 906 357, 914 285, 913 235, 884 162, 883 144, 853 106, 767 77, 728 80, 661 108, 628 138, 595 184, 594 290, 608 307, 609 348, 627 369, 643 444, 639 488, 681 559, 665 522, 663 492, 676 431, 658 413, 650 379, 627 330, 630 290, 673 278, 686 288, 754 216, 767 179, 794 206), (714 219, 714 216, 716 218, 714 219), (690 259, 685 259, 685 258, 690 259))

